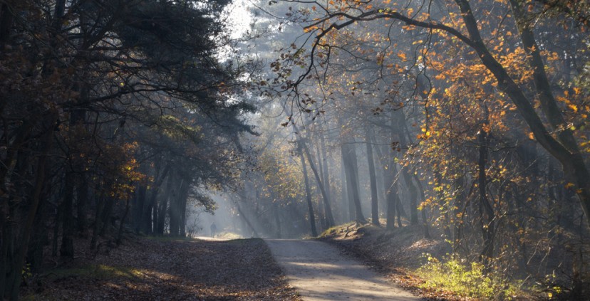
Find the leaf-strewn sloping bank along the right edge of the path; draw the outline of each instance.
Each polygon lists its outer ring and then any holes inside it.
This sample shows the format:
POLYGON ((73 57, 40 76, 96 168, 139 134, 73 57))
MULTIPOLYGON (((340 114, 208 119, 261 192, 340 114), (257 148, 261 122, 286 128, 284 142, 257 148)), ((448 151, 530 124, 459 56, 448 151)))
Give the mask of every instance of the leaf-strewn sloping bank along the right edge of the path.
POLYGON ((411 271, 426 262, 425 254, 442 257, 450 245, 441 239, 423 238, 421 226, 405 226, 387 231, 371 224, 347 223, 325 231, 321 241, 331 243, 343 253, 361 260, 390 281, 427 300, 471 300, 444 290, 425 290, 423 280, 411 271))

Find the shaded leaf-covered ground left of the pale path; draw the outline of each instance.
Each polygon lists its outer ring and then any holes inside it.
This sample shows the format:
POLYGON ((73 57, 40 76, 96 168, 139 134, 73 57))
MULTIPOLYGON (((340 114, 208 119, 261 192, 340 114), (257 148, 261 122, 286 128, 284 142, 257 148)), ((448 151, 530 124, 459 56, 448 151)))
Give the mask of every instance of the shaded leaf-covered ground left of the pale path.
POLYGON ((262 239, 128 238, 29 277, 21 300, 301 300, 262 239))

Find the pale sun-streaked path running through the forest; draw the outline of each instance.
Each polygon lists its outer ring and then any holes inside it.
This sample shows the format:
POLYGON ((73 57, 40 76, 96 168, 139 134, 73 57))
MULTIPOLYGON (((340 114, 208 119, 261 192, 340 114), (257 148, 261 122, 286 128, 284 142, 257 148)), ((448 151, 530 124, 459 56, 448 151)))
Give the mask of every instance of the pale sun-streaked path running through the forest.
POLYGON ((264 241, 303 300, 422 300, 327 243, 264 241))

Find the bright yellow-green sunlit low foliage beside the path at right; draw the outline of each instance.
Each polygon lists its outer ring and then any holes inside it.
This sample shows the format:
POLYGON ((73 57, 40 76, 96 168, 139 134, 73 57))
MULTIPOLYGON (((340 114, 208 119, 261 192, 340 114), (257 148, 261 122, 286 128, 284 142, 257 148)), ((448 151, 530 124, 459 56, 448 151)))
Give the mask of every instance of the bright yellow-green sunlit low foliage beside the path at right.
POLYGON ((500 273, 485 273, 481 263, 463 263, 456 257, 442 261, 426 255, 428 263, 418 268, 417 275, 424 280, 419 287, 444 290, 463 297, 480 300, 512 300, 522 295, 521 283, 510 281, 500 273))

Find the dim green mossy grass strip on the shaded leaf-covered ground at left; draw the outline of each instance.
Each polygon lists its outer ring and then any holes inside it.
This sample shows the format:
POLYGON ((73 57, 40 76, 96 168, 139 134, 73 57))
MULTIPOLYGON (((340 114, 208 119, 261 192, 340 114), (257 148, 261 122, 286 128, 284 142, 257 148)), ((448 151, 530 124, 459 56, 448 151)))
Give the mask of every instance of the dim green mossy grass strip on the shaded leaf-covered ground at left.
POLYGON ((46 275, 48 278, 53 280, 71 277, 107 280, 113 278, 140 278, 143 276, 143 272, 139 269, 128 267, 110 265, 84 265, 76 268, 52 270, 46 275))

